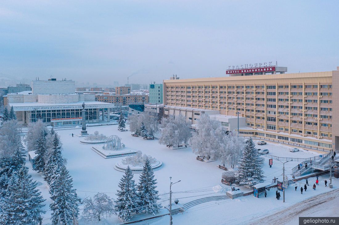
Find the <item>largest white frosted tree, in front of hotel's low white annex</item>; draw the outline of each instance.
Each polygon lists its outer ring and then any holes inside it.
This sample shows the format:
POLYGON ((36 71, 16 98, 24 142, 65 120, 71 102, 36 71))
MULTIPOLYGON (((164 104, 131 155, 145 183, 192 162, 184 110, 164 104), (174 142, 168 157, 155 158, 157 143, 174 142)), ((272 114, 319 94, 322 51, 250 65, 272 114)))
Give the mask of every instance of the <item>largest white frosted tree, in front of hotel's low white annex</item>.
POLYGON ((203 114, 197 123, 197 129, 190 139, 192 151, 196 155, 215 159, 219 156, 226 135, 221 123, 203 114))

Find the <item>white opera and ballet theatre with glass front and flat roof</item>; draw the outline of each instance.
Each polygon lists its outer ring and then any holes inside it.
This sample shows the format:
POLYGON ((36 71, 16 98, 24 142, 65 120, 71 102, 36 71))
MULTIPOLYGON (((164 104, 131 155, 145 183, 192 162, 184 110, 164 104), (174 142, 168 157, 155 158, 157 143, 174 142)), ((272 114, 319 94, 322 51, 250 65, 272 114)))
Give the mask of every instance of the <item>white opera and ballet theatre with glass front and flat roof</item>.
POLYGON ((86 123, 100 122, 104 118, 100 117, 99 110, 114 108, 114 104, 96 102, 95 94, 76 94, 75 81, 54 78, 33 80, 32 91, 7 95, 7 107, 13 106, 17 120, 22 124, 41 119, 51 126, 81 125, 83 103, 86 123))

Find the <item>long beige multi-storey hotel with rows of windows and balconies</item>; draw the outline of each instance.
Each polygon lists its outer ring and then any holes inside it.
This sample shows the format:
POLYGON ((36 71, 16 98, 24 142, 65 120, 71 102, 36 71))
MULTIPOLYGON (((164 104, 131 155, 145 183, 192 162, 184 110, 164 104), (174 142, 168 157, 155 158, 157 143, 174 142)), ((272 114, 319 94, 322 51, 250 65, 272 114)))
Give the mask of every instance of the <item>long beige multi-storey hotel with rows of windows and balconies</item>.
POLYGON ((163 81, 164 105, 218 110, 246 119, 247 136, 319 149, 339 148, 339 67, 285 73, 286 67, 230 69, 228 77, 163 81))

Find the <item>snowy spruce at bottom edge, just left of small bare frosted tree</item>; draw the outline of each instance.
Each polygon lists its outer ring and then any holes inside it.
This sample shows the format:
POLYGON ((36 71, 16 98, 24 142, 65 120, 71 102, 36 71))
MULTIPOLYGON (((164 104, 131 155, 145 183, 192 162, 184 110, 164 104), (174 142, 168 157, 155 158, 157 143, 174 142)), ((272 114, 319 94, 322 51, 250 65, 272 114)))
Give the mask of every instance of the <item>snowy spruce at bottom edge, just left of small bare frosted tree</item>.
POLYGON ((55 191, 51 199, 53 202, 49 207, 53 210, 52 224, 71 224, 73 222, 73 213, 75 218, 78 217, 79 208, 75 203, 79 199, 76 189, 73 189, 73 179, 64 165, 61 167, 60 175, 55 181, 55 191))

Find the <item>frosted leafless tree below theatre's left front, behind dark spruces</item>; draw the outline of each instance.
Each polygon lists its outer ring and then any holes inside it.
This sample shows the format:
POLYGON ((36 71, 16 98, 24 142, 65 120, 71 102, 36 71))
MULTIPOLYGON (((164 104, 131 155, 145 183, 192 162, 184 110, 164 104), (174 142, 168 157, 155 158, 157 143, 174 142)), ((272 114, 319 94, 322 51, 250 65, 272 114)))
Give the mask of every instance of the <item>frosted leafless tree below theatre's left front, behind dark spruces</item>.
POLYGON ((41 131, 43 131, 45 134, 48 133, 46 124, 43 123, 42 120, 37 120, 37 122, 28 124, 28 131, 25 137, 25 143, 28 151, 35 150, 35 145, 41 136, 41 131))

